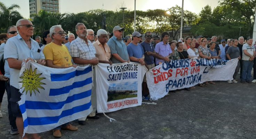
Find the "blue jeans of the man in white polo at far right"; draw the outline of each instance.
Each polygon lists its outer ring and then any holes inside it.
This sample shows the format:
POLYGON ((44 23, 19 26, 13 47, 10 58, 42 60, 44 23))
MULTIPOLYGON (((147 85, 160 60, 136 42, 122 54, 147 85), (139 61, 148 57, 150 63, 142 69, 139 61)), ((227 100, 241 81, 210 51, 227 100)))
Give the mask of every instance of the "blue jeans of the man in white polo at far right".
POLYGON ((242 71, 243 81, 250 81, 251 70, 253 70, 253 61, 243 60, 243 71, 242 71))

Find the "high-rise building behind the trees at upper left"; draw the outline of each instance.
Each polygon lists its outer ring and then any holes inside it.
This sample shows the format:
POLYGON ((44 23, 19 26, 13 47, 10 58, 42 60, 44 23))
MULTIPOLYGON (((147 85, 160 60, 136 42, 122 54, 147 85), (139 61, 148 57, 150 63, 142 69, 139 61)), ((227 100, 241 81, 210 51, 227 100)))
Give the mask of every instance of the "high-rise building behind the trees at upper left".
POLYGON ((29 0, 29 13, 38 14, 40 10, 52 13, 60 13, 60 0, 29 0))

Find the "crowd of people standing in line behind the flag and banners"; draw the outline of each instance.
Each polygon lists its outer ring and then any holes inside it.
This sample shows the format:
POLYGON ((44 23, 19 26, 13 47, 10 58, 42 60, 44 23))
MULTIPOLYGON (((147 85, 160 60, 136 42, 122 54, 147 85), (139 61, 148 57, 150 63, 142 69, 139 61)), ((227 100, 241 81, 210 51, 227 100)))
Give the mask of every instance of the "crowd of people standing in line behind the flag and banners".
MULTIPOLYGON (((238 83, 236 75, 240 74, 241 83, 256 82, 256 52, 253 46, 253 39, 247 38, 246 43, 241 36, 238 39, 225 39, 217 43, 217 36, 210 38, 191 38, 187 36, 184 41, 169 41, 169 33, 163 32, 161 37, 146 32, 145 40, 142 41, 142 34, 134 31, 131 36, 122 38, 124 28, 115 26, 113 36, 109 38, 107 31, 100 29, 96 32, 87 29, 83 23, 75 26, 77 38, 73 33, 64 32, 61 25, 55 25, 40 36, 33 36, 33 24, 28 19, 20 19, 16 26, 10 26, 7 33, 0 34, 0 107, 3 94, 6 90, 8 99, 8 115, 11 125, 10 134, 23 134, 23 118, 17 102, 20 100, 20 90, 18 85, 21 64, 25 60, 31 60, 38 64, 52 68, 68 68, 76 66, 94 65, 98 63, 117 64, 136 62, 145 65, 148 70, 163 62, 179 59, 219 58, 231 60, 238 58, 233 80, 228 83, 238 83), (109 39, 108 39, 109 38, 109 39), (227 42, 227 43, 226 43, 227 42), (251 81, 251 70, 254 67, 253 81, 251 81), (239 72, 240 70, 240 72, 239 72)), ((93 85, 91 102, 93 111, 87 116, 78 119, 81 125, 86 124, 86 118, 98 119, 96 113, 96 83, 95 72, 93 72, 93 85)), ((213 81, 199 84, 205 87, 213 81)), ((192 87, 195 88, 195 87, 192 87)), ((191 88, 186 88, 190 90, 191 88)), ((146 76, 142 83, 142 99, 149 100, 149 90, 146 76)), ((0 111, 0 117, 2 117, 0 111)), ((60 138, 61 129, 75 131, 78 128, 70 123, 63 124, 53 129, 53 136, 60 138)), ((34 139, 40 138, 38 134, 32 134, 34 139)), ((25 134, 24 139, 28 135, 25 134)))

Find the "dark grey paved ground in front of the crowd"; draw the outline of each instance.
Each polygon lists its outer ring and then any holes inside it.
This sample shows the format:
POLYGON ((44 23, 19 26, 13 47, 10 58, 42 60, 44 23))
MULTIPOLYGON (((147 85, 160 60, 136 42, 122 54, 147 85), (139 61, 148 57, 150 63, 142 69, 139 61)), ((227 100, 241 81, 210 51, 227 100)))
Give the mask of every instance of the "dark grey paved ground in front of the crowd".
MULTIPOLYGON (((7 100, 2 104, 0 139, 9 134, 7 100)), ((62 139, 256 139, 256 84, 220 81, 191 91, 181 90, 154 101, 88 120, 78 131, 63 131, 62 139)), ((52 132, 40 133, 53 139, 52 132)))

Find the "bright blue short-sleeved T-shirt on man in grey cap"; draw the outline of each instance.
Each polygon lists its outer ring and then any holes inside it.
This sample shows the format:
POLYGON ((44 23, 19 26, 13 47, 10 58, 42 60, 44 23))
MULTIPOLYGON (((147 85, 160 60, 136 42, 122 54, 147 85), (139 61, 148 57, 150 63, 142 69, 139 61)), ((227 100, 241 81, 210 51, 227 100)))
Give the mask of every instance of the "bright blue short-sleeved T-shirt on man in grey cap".
MULTIPOLYGON (((144 50, 139 43, 137 45, 133 43, 128 44, 127 52, 129 57, 136 57, 136 58, 141 58, 144 54, 144 50)), ((137 62, 137 61, 132 61, 132 62, 137 62)))

